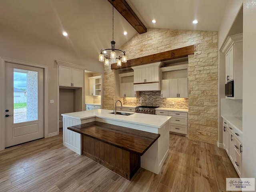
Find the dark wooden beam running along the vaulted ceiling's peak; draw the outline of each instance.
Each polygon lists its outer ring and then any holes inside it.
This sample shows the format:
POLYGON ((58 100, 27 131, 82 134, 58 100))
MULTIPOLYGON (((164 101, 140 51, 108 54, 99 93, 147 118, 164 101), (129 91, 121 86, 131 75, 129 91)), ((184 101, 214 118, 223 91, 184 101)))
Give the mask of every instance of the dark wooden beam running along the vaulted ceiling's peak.
MULTIPOLYGON (((108 0, 112 4, 112 0, 108 0)), ((139 33, 146 33, 147 28, 134 13, 132 8, 125 0, 114 0, 114 8, 130 23, 131 26, 139 33)))

